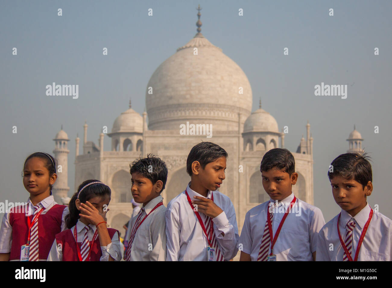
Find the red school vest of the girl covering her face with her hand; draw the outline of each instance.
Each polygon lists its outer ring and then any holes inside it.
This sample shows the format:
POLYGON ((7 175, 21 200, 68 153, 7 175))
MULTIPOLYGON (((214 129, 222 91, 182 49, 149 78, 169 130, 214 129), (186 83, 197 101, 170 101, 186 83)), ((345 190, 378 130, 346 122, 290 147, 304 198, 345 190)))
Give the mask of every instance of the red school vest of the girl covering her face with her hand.
MULTIPOLYGON (((113 238, 114 233, 118 233, 118 230, 113 228, 107 228, 110 239, 113 238)), ((120 239, 120 237, 118 237, 120 239)), ((64 230, 56 235, 57 247, 61 244, 63 252, 63 261, 79 261, 78 250, 76 249, 76 241, 73 235, 73 228, 64 230)), ((91 245, 91 241, 90 241, 91 245)), ((78 242, 79 249, 82 247, 82 242, 78 242)), ((90 261, 100 261, 102 256, 101 245, 99 243, 99 237, 96 236, 93 247, 91 247, 90 261)))

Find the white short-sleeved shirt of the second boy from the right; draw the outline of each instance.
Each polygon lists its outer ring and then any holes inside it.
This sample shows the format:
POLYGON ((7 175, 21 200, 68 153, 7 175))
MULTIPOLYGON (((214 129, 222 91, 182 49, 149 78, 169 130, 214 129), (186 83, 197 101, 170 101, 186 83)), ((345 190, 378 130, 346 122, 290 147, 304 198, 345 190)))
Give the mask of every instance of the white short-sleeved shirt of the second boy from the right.
MULTIPOLYGON (((278 202, 278 208, 272 209, 273 237, 293 199, 294 193, 291 192, 288 197, 278 202)), ((242 251, 249 254, 252 261, 257 261, 259 255, 270 202, 275 203, 275 200, 270 199, 254 207, 245 215, 238 246, 242 245, 242 251)), ((276 260, 313 261, 312 253, 316 251, 317 234, 324 224, 323 213, 319 208, 297 198, 296 204, 292 206, 276 239, 273 249, 276 260)), ((271 243, 268 254, 270 252, 271 243)))

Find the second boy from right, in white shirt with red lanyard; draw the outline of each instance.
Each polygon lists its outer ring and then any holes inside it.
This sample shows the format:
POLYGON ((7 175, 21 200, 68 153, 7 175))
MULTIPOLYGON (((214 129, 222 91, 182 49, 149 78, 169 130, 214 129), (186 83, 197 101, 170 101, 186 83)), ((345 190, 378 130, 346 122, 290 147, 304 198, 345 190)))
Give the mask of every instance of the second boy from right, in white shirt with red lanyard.
POLYGON ((265 153, 261 178, 270 201, 250 209, 241 231, 240 261, 314 261, 321 210, 294 196, 298 173, 287 149, 265 153))

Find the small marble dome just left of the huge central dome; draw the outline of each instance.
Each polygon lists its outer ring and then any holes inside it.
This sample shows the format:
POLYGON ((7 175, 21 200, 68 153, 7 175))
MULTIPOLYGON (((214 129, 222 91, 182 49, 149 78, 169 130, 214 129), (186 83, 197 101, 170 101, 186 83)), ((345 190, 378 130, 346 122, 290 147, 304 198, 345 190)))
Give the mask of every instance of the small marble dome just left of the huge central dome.
POLYGON ((143 117, 132 108, 129 108, 114 120, 112 133, 115 132, 143 133, 143 117))

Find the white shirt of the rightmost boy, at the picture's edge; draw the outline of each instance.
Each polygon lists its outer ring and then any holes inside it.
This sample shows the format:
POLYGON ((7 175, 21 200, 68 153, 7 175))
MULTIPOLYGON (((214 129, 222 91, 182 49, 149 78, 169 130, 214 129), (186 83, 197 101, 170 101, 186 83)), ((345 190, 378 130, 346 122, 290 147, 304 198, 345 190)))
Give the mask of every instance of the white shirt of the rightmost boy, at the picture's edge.
MULTIPOLYGON (((339 231, 344 242, 346 236, 346 224, 354 218, 355 227, 352 231, 351 256, 354 260, 359 237, 367 222, 370 206, 366 206, 352 217, 345 210, 341 210, 339 231)), ((317 241, 316 261, 343 261, 344 249, 338 235, 338 217, 332 218, 320 230, 317 241), (332 246, 332 245, 333 246, 332 246), (332 249, 333 248, 333 249, 332 249)), ((365 238, 359 248, 358 261, 392 261, 392 220, 383 214, 373 210, 373 216, 367 228, 365 238)))

